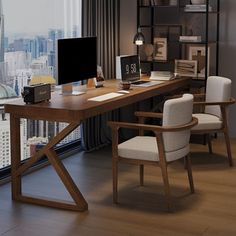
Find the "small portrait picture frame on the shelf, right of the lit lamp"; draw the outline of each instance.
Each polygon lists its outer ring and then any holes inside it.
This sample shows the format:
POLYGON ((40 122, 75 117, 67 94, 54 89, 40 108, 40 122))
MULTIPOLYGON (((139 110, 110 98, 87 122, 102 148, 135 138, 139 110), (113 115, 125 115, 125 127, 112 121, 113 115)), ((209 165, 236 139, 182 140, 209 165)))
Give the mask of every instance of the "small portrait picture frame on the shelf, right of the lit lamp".
POLYGON ((155 37, 153 59, 156 61, 167 61, 167 38, 155 37))

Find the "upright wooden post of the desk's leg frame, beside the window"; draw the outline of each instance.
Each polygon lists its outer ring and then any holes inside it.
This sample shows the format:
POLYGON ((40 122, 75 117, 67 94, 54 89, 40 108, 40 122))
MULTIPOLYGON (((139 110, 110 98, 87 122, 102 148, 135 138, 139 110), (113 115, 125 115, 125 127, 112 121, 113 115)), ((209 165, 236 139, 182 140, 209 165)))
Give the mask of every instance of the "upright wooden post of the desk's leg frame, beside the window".
POLYGON ((11 114, 10 124, 12 199, 19 200, 21 195, 21 176, 17 175, 17 169, 20 167, 21 162, 20 118, 11 114))

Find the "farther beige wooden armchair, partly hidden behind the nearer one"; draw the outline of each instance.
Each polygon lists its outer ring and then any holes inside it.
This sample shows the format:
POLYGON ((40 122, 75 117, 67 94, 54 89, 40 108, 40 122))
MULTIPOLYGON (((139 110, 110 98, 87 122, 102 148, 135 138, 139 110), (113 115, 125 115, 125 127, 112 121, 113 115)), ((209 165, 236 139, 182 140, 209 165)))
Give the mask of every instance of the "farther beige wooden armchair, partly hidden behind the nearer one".
POLYGON ((222 132, 225 136, 229 165, 233 165, 230 140, 228 134, 227 108, 235 103, 231 98, 231 80, 220 76, 210 76, 207 79, 206 94, 203 102, 194 102, 194 105, 204 106, 204 112, 194 114, 198 118, 198 125, 192 128, 192 133, 207 134, 209 152, 212 153, 211 133, 222 132))

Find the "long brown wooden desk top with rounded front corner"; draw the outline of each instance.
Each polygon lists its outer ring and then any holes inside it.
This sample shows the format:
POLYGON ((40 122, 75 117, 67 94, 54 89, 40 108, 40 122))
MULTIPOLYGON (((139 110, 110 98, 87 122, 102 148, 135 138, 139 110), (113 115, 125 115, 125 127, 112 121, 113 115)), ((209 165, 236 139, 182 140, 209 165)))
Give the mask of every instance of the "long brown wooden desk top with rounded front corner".
POLYGON ((50 102, 25 104, 22 98, 5 104, 5 112, 17 117, 71 122, 84 120, 135 102, 185 87, 190 83, 188 78, 166 81, 150 87, 132 87, 128 94, 102 102, 88 101, 89 98, 117 92, 119 80, 107 80, 102 88, 89 88, 79 96, 62 96, 59 91, 52 92, 50 102))

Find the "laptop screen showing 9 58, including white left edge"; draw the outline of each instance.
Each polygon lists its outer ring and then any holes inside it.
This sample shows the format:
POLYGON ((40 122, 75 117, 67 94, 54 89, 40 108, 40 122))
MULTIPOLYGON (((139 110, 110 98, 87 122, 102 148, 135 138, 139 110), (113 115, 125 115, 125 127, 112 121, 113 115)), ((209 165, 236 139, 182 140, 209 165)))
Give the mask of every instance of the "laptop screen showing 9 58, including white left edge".
POLYGON ((116 77, 123 81, 140 79, 139 56, 118 56, 116 58, 116 77))

